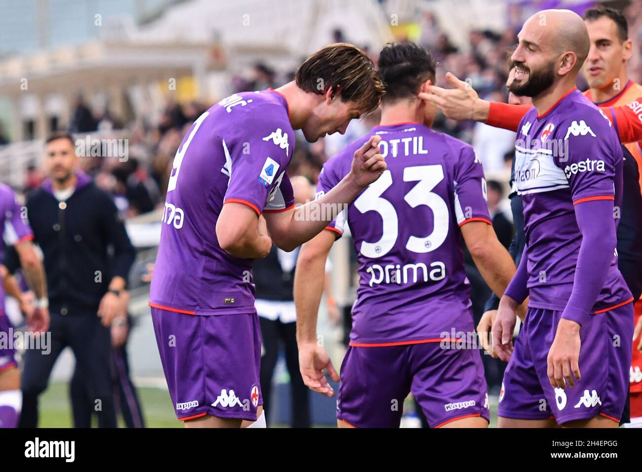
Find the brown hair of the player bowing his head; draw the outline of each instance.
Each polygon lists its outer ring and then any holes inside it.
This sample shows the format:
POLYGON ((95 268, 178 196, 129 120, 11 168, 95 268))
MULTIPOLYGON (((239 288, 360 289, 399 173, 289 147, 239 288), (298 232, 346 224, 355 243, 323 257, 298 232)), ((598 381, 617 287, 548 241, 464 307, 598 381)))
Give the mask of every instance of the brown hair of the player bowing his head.
POLYGON ((306 92, 325 94, 354 101, 358 109, 369 113, 379 107, 383 84, 370 58, 361 49, 346 42, 329 44, 301 64, 294 78, 297 87, 306 92))

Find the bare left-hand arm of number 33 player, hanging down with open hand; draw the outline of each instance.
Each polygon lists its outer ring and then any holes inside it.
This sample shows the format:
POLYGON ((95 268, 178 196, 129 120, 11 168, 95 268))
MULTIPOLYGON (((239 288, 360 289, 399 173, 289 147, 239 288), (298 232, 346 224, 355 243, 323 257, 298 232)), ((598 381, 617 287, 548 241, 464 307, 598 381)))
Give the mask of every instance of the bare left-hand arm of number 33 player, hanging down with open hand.
POLYGON ((297 309, 299 369, 303 382, 315 392, 333 396, 324 369, 335 382, 339 376, 322 344, 317 340, 317 313, 324 290, 325 261, 334 243, 334 233, 322 231, 303 245, 294 275, 294 302, 297 309))

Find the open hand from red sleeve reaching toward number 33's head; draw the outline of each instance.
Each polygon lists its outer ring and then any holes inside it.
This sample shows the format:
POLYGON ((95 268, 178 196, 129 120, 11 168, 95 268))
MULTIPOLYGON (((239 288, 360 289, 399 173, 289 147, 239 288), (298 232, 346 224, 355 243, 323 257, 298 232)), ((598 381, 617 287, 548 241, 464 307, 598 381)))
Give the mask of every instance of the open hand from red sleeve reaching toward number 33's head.
MULTIPOLYGON (((453 89, 443 89, 437 85, 429 85, 428 92, 420 92, 419 98, 425 100, 431 105, 442 111, 447 118, 462 121, 463 119, 475 119, 476 121, 485 121, 488 118, 483 116, 483 103, 477 92, 474 91, 468 83, 459 80, 455 75, 446 73, 446 80, 453 89), (480 105, 482 105, 480 107, 480 105)), ((488 102, 485 102, 486 104, 488 102)))

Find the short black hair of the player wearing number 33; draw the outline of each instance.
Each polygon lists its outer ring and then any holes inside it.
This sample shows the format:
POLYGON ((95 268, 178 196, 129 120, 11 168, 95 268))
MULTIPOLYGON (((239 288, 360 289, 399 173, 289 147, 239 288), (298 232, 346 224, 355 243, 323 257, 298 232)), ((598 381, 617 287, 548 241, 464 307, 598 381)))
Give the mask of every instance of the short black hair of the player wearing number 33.
POLYGON ((413 42, 389 42, 379 53, 379 76, 386 102, 417 96, 423 82, 435 82, 435 61, 430 53, 413 42))

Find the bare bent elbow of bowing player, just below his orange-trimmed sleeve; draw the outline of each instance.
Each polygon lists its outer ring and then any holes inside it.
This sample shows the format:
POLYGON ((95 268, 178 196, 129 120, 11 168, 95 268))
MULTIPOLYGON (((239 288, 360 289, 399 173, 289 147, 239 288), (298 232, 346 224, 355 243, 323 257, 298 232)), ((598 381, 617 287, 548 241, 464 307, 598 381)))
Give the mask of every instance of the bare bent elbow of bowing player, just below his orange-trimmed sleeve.
POLYGON ((221 249, 235 258, 265 258, 272 248, 265 218, 235 202, 223 205, 216 221, 216 238, 221 249))

